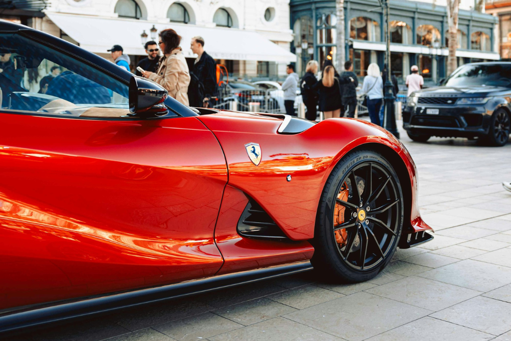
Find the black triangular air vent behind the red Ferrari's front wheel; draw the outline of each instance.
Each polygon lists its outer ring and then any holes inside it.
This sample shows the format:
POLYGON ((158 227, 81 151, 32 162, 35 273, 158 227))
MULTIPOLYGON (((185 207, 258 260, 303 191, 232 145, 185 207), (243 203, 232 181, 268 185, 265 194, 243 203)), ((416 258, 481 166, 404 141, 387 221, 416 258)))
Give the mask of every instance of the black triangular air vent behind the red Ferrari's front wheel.
POLYGON ((289 240, 268 213, 254 199, 248 199, 238 220, 238 234, 252 238, 289 240))

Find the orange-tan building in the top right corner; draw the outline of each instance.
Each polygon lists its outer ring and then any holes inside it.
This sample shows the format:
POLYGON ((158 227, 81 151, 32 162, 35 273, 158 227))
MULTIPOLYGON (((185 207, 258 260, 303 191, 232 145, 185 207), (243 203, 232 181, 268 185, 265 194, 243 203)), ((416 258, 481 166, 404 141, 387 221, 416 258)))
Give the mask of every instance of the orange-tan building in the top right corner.
POLYGON ((486 13, 499 18, 495 34, 502 60, 511 61, 511 0, 488 0, 486 13))

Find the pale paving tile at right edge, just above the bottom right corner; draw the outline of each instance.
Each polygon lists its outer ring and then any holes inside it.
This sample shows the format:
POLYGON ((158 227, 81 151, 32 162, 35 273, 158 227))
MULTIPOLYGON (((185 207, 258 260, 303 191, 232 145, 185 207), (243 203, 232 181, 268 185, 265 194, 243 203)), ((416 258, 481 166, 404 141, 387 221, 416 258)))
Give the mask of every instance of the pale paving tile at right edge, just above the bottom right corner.
POLYGON ((511 303, 475 297, 431 315, 493 335, 511 330, 511 303))

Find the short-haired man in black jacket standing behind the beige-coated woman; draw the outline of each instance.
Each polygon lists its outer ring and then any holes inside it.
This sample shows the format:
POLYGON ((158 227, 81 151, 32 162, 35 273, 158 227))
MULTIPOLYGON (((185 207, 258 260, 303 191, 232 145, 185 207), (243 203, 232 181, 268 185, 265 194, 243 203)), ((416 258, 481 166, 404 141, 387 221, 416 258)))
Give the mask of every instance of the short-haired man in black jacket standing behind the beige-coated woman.
MULTIPOLYGON (((213 101, 218 95, 217 63, 213 57, 204 51, 204 38, 199 36, 193 37, 190 48, 193 53, 198 55, 197 59, 195 59, 192 73, 204 87, 203 98, 197 99, 197 103, 190 101, 190 106, 212 107, 213 101)), ((189 93, 194 90, 189 87, 189 93)))

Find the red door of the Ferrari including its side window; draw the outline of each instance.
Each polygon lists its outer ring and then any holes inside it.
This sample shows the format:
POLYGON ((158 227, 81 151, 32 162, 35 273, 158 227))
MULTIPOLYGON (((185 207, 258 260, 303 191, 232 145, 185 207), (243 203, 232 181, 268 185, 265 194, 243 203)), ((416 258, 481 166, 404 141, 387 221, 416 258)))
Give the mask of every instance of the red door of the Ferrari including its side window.
POLYGON ((214 275, 213 133, 125 117, 126 83, 55 48, 2 32, 0 46, 21 79, 61 71, 45 94, 0 82, 0 309, 214 275))

